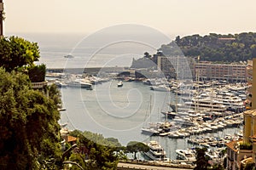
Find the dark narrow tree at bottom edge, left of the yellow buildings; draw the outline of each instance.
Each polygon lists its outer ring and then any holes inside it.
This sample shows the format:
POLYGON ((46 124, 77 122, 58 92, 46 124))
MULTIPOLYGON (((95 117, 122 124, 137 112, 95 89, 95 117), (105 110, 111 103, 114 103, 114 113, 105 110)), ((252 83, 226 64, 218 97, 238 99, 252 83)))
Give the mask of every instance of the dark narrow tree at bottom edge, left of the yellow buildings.
POLYGON ((207 170, 210 167, 209 159, 206 156, 207 148, 196 148, 196 167, 195 170, 207 170))

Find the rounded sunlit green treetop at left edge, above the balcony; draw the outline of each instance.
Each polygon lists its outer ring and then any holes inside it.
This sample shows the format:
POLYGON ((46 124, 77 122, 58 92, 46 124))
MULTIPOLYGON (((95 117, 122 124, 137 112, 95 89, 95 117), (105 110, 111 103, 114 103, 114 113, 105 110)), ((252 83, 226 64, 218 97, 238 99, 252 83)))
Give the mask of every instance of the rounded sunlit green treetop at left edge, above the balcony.
POLYGON ((0 59, 0 66, 6 71, 32 66, 39 59, 38 44, 21 37, 3 37, 0 39, 0 59))

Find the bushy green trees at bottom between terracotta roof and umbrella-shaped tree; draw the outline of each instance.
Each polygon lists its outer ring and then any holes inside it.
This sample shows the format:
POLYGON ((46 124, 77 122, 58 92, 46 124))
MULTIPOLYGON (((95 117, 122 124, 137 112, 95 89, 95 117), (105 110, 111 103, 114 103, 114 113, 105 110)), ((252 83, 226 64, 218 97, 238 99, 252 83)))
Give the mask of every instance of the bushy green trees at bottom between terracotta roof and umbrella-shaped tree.
MULTIPOLYGON (((105 139, 102 134, 82 133, 79 130, 74 130, 70 135, 79 138, 79 155, 86 160, 82 166, 84 169, 116 169, 119 161, 116 153, 121 148, 117 139, 105 139)), ((71 157, 67 160, 71 160, 71 157)))

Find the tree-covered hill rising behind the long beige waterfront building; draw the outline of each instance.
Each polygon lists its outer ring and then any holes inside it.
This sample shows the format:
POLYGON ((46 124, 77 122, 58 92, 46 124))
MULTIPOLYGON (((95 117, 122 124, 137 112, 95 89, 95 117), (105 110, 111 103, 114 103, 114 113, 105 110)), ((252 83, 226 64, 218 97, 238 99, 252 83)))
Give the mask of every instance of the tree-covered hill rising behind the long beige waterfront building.
POLYGON ((221 35, 210 33, 201 37, 198 34, 186 37, 177 36, 175 41, 162 45, 160 51, 165 55, 177 55, 180 51, 185 56, 201 56, 201 60, 209 61, 244 61, 256 57, 256 33, 243 32, 240 34, 221 35))

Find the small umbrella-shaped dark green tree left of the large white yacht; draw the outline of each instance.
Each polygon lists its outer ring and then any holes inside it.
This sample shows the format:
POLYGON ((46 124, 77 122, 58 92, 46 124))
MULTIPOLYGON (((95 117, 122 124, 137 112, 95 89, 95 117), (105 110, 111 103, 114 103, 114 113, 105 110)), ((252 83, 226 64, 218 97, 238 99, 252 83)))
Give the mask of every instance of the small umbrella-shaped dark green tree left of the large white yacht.
POLYGON ((147 152, 149 150, 149 147, 147 144, 143 144, 142 142, 130 141, 126 146, 126 150, 130 153, 134 153, 134 159, 137 159, 137 152, 147 152))

